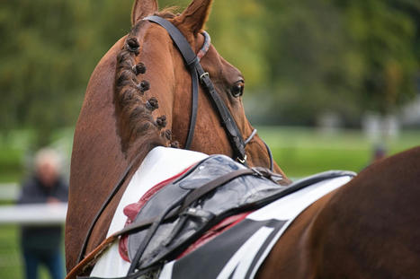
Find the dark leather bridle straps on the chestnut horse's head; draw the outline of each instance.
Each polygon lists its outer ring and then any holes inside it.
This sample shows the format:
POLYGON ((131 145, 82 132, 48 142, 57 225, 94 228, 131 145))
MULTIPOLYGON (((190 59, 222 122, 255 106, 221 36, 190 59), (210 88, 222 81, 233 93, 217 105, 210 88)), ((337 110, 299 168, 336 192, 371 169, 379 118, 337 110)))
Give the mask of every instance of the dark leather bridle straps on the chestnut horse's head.
MULTIPOLYGON (((194 137, 195 123, 197 120, 199 98, 198 92, 200 79, 201 85, 204 87, 205 92, 208 93, 210 100, 212 101, 215 109, 219 113, 219 118, 221 119, 221 123, 225 129, 226 135, 228 135, 229 143, 234 151, 234 158, 237 158, 237 161, 246 164, 245 146, 251 141, 251 139, 256 134, 256 129, 246 140, 244 140, 242 134, 239 131, 239 128, 237 127, 237 122, 232 117, 228 107, 226 106, 225 102, 221 100, 219 93, 216 91, 213 83, 211 82, 209 73, 204 72, 204 70, 202 69, 200 60, 201 57, 203 57, 207 53, 207 50, 209 50, 210 48, 209 34, 206 31, 202 32, 202 34, 204 35, 204 44, 201 50, 199 51, 198 55, 195 55, 195 52, 192 50, 187 39, 185 39, 181 31, 179 31, 178 28, 174 26, 174 24, 156 15, 147 16, 144 20, 149 22, 155 22, 163 28, 165 28, 165 30, 169 33, 169 36, 174 41, 175 46, 178 48, 181 55, 183 56, 183 61, 185 62, 185 65, 187 66, 192 76, 192 112, 190 118, 190 126, 188 129, 188 135, 184 148, 190 149, 192 144, 192 138, 194 137)), ((265 146, 270 157, 270 169, 273 170, 273 156, 267 144, 265 144, 265 146)))

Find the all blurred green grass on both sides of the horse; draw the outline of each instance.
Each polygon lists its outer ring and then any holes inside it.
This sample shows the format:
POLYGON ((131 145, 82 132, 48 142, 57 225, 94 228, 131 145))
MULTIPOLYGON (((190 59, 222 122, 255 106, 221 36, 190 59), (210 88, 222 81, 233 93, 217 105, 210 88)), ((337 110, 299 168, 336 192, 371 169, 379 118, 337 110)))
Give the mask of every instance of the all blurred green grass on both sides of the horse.
MULTIPOLYGON (((292 179, 324 170, 357 172, 371 159, 371 141, 360 131, 325 134, 317 129, 260 126, 258 132, 271 147, 275 161, 292 179)), ((58 145, 67 146, 65 150, 69 156, 71 129, 56 134, 58 145)), ((419 145, 420 131, 404 131, 398 138, 387 139, 385 144, 389 154, 398 153, 419 145)), ((24 157, 30 147, 31 133, 27 131, 0 136, 0 183, 22 179, 24 157)), ((17 232, 16 226, 0 226, 0 278, 22 278, 17 232)), ((42 278, 46 278, 45 270, 41 273, 42 278)))

